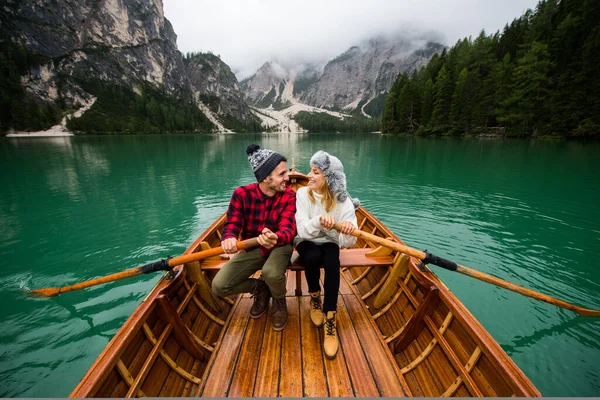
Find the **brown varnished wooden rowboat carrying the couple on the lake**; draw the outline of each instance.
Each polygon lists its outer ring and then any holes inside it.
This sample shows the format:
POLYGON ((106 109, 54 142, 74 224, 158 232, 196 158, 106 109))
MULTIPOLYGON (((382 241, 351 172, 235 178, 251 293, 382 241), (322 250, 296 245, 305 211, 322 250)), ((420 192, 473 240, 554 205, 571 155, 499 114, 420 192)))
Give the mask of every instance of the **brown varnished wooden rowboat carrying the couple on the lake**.
MULTIPOLYGON (((294 189, 307 177, 290 174, 294 189)), ((359 229, 402 241, 367 210, 359 229)), ((186 254, 220 246, 225 215, 186 254)), ((541 396, 438 277, 421 262, 359 238, 341 252, 340 351, 323 356, 294 253, 289 321, 249 317, 249 295, 217 298, 217 256, 166 274, 70 397, 541 396)))

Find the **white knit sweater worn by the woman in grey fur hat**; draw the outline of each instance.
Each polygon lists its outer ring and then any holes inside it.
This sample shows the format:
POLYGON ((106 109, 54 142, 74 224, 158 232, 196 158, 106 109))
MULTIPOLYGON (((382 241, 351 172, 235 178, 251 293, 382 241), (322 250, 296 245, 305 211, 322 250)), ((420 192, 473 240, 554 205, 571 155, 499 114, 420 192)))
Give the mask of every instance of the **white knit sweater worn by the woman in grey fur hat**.
POLYGON ((325 205, 321 203, 322 195, 313 191, 315 202, 311 202, 308 197, 308 188, 301 187, 296 192, 296 229, 298 236, 294 239, 294 245, 303 240, 310 240, 315 243, 333 242, 340 247, 352 247, 356 243, 356 237, 344 235, 335 229, 325 229, 319 222, 319 216, 322 214, 333 215, 335 222, 342 223, 350 221, 355 228, 358 228, 356 222, 356 213, 352 200, 348 197, 343 202, 337 202, 329 211, 325 211, 325 205))

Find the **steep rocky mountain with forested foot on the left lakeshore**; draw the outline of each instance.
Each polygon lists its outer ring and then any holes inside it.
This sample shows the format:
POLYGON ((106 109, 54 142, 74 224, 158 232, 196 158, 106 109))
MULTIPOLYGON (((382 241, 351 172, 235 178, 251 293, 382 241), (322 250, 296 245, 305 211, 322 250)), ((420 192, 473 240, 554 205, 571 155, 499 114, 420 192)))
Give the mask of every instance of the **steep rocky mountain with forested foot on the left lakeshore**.
POLYGON ((229 67, 211 56, 197 56, 210 59, 210 68, 184 61, 161 0, 3 3, 1 131, 45 128, 92 102, 73 128, 169 132, 256 124, 229 67))

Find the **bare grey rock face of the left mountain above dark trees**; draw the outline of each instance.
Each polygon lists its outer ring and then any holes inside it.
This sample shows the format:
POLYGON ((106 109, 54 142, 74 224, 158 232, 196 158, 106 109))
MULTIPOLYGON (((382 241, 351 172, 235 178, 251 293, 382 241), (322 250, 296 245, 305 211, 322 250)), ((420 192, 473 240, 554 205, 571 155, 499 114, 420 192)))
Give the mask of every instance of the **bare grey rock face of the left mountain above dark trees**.
MULTIPOLYGON (((216 90, 219 107, 244 119, 243 98, 222 96, 214 85, 193 86, 177 50, 176 35, 164 17, 161 0, 5 0, 0 10, 4 38, 41 60, 21 76, 23 88, 38 102, 76 107, 91 94, 85 83, 100 80, 140 93, 149 85, 183 103, 193 102, 198 88, 216 90)), ((235 79, 235 77, 234 77, 235 79)), ((236 82, 237 83, 237 82, 236 82)), ((238 97, 236 97, 238 95, 238 97)))

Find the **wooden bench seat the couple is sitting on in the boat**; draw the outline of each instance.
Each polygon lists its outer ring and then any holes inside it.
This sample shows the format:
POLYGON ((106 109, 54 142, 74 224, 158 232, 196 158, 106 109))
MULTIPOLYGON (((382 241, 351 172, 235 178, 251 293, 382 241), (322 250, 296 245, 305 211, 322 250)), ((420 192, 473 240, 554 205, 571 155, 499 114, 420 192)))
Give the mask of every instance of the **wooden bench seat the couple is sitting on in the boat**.
MULTIPOLYGON (((340 268, 352 268, 352 267, 372 267, 372 266, 389 266, 394 263, 394 257, 390 255, 386 256, 372 256, 368 253, 372 252, 373 249, 343 249, 340 251, 340 268)), ((203 260, 200 267, 203 270, 219 270, 231 258, 231 255, 223 254, 218 257, 209 258, 203 260)), ((296 272, 296 296, 302 295, 301 273, 304 267, 300 264, 300 257, 297 251, 294 250, 290 263, 287 267, 290 271, 296 272)))

